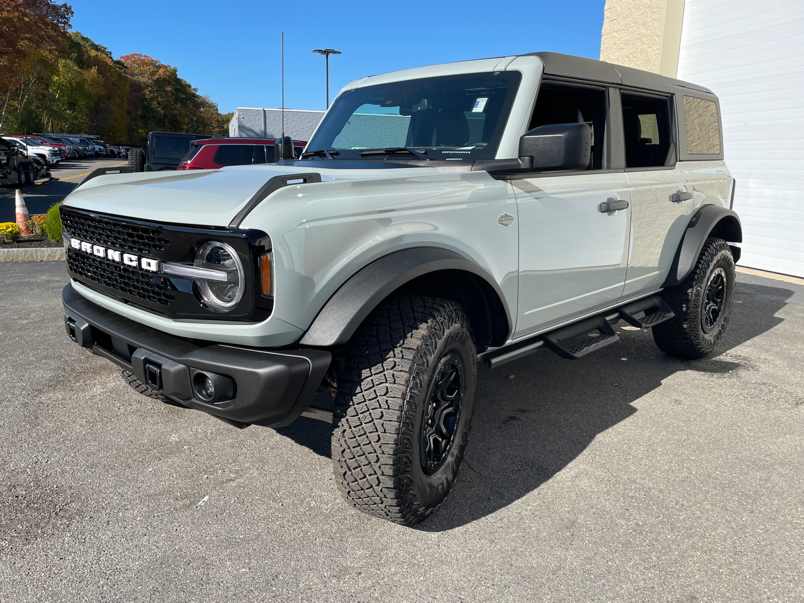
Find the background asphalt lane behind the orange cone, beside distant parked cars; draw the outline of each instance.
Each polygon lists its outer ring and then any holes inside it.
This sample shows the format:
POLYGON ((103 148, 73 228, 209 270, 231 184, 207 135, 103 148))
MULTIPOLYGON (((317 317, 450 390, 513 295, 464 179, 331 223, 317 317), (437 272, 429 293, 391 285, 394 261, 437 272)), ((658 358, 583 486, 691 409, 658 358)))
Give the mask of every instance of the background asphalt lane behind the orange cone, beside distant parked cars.
MULTIPOLYGON (((38 180, 31 187, 19 189, 25 195, 28 213, 43 214, 53 203, 58 203, 84 181, 84 178, 99 167, 125 166, 125 158, 83 158, 64 159, 51 167, 51 180, 38 180)), ((17 187, 0 188, 0 222, 16 221, 14 215, 14 195, 17 187)))

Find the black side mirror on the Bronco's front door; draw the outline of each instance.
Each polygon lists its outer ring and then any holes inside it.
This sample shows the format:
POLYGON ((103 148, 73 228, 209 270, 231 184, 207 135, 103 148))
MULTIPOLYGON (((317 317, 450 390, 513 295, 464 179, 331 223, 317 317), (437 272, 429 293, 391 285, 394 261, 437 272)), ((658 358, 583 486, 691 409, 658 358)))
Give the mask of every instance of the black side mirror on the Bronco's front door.
POLYGON ((585 170, 591 143, 589 125, 539 125, 519 138, 519 157, 532 157, 537 171, 585 170))

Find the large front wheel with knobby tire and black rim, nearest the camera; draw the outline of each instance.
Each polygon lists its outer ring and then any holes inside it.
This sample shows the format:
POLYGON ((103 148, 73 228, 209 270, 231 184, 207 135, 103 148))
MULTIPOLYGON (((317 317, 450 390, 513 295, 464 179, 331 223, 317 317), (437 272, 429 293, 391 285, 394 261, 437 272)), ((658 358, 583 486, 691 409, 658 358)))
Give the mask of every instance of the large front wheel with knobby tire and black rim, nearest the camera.
POLYGON ((477 350, 453 301, 384 301, 360 326, 338 379, 332 465, 359 511, 410 526, 452 489, 474 411, 477 350))

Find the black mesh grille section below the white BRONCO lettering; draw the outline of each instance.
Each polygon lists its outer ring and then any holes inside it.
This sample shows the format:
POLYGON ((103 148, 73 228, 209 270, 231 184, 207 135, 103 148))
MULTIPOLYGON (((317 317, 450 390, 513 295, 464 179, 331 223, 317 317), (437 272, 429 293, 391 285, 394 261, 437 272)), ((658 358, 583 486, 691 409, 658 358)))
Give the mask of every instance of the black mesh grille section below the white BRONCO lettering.
MULTIPOLYGON (((62 219, 64 219, 64 215, 62 219)), ((117 245, 122 247, 121 244, 117 245)), ((68 249, 67 264, 70 272, 74 273, 76 277, 83 277, 88 281, 105 285, 121 293, 128 293, 142 300, 168 306, 170 301, 176 298, 172 293, 174 289, 166 277, 160 277, 145 270, 120 265, 74 249, 68 249)))

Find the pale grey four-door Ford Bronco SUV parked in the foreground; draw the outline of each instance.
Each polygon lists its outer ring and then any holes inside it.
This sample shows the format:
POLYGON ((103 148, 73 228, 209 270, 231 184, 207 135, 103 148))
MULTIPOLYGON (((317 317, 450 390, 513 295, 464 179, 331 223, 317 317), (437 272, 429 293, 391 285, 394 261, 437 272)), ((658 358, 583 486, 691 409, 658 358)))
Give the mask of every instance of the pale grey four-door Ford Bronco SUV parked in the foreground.
POLYGON ((478 362, 579 359, 620 320, 716 347, 733 194, 695 84, 549 52, 364 77, 301 158, 73 191, 64 320, 146 396, 331 421, 347 502, 411 525, 456 479, 478 362))

